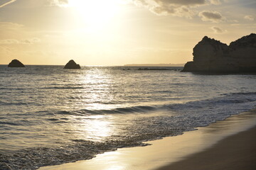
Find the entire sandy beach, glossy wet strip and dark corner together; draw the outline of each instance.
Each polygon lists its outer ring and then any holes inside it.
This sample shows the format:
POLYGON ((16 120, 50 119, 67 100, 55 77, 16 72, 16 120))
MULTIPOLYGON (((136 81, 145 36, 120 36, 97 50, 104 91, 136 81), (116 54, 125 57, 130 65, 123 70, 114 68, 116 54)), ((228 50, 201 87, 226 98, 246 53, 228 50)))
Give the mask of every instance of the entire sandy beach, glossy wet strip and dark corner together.
POLYGON ((121 148, 41 170, 255 169, 255 125, 256 112, 250 111, 183 135, 147 142, 150 146, 121 148))

